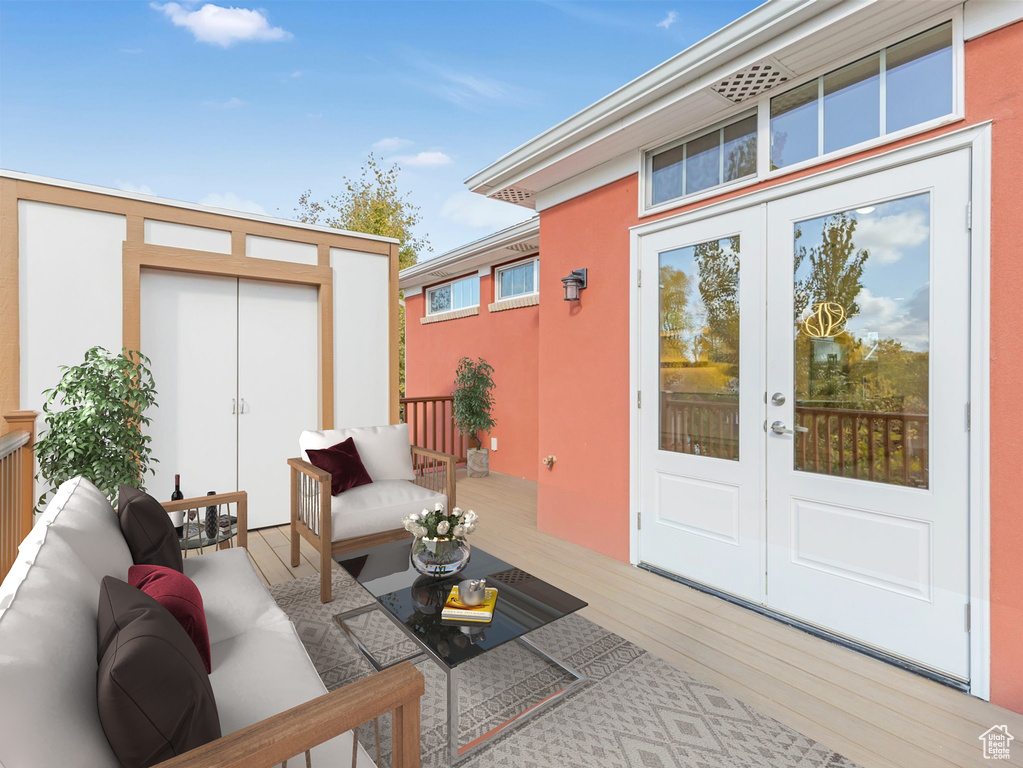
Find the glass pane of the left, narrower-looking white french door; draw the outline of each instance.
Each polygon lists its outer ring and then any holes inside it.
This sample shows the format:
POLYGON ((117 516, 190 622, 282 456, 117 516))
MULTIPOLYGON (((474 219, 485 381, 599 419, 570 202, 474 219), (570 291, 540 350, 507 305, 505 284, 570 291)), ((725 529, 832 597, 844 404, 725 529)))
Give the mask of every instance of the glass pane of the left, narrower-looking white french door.
POLYGON ((739 235, 660 255, 660 447, 739 460, 739 235))

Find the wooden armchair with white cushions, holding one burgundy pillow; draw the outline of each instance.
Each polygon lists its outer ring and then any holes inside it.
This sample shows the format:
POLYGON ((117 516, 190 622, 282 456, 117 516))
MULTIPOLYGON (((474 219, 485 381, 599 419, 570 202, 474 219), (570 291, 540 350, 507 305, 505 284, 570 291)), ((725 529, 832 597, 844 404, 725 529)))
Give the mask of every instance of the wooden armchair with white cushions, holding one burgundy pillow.
POLYGON ((330 560, 335 555, 408 537, 401 518, 454 507, 457 459, 409 444, 408 424, 307 430, 299 437, 301 458, 292 469, 292 566, 300 561, 300 537, 320 556, 320 600, 329 602, 330 560), (329 448, 352 438, 369 485, 330 495, 330 473, 309 463, 306 451, 329 448))

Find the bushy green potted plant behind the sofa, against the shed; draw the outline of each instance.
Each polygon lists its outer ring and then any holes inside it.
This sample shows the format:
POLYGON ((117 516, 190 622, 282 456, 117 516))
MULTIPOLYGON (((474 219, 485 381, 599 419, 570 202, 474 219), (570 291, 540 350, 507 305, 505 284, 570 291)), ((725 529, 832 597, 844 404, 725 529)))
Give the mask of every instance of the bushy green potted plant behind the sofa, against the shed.
POLYGON ((122 484, 145 490, 146 472, 155 473, 146 410, 157 405, 149 359, 140 352, 120 354, 93 347, 81 365, 60 366, 60 381, 43 393, 46 431, 36 443, 39 475, 46 497, 65 480, 84 475, 117 503, 122 484))

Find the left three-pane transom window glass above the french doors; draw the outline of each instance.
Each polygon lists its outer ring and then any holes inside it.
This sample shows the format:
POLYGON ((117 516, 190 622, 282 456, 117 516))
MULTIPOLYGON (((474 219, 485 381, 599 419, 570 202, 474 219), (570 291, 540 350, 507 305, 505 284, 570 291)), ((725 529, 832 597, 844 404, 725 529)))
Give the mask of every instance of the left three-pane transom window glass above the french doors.
POLYGON ((702 192, 757 172, 757 116, 651 154, 651 205, 702 192))

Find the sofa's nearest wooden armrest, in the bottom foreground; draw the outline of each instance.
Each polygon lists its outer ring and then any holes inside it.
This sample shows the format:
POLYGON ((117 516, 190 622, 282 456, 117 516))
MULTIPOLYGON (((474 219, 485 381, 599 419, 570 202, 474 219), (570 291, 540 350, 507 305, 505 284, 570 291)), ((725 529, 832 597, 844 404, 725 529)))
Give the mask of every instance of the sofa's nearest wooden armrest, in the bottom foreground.
POLYGON ((418 768, 419 697, 424 689, 422 673, 411 662, 402 662, 171 758, 157 768, 271 768, 388 712, 393 717, 395 768, 418 768))

